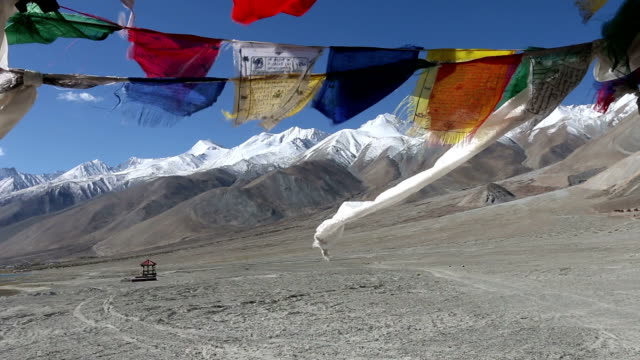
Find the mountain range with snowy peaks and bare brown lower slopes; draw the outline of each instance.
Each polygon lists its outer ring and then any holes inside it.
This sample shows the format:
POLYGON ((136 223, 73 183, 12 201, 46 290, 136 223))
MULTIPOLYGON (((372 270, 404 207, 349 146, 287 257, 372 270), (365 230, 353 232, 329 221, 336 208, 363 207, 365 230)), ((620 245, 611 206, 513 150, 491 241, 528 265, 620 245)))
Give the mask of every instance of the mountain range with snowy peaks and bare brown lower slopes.
MULTIPOLYGON (((533 129, 514 129, 413 200, 478 185, 493 199, 498 187, 487 184, 551 168, 636 111, 633 96, 604 115, 588 105, 559 107, 533 129)), ((183 154, 132 157, 116 166, 93 160, 41 175, 0 169, 0 263, 146 251, 371 198, 447 150, 405 136, 402 128, 383 114, 333 134, 293 127, 230 149, 201 140, 183 154)), ((576 168, 568 175, 580 173, 576 168)))

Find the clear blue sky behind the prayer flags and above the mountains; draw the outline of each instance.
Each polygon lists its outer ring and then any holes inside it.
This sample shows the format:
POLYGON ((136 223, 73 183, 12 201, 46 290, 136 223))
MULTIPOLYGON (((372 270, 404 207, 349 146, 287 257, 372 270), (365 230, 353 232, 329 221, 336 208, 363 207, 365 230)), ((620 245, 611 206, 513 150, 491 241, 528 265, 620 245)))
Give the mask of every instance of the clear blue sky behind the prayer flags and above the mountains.
MULTIPOLYGON (((124 10, 118 0, 59 0, 77 10, 116 20, 124 10)), ((270 41, 300 45, 426 48, 522 49, 556 47, 591 41, 622 0, 610 0, 587 25, 582 24, 573 0, 318 0, 304 16, 278 15, 249 26, 231 21, 232 0, 138 0, 136 26, 163 32, 213 38, 270 41)), ((51 45, 10 47, 10 65, 49 73, 144 76, 126 59, 129 44, 117 35, 105 41, 60 39, 51 45)), ((325 56, 326 57, 326 53, 325 56)), ((209 76, 234 74, 232 53, 221 52, 209 76)), ((326 61, 316 65, 324 72, 326 61)), ((334 132, 357 128, 377 114, 393 112, 411 92, 416 77, 376 106, 342 126, 332 126, 319 112, 307 108, 274 128, 315 127, 334 132)), ((115 86, 88 92, 99 102, 59 99, 65 90, 42 86, 32 110, 0 140, 0 167, 29 173, 67 170, 100 159, 109 165, 131 156, 165 157, 180 154, 200 139, 225 147, 237 145, 262 130, 255 124, 231 126, 221 110, 233 106, 233 86, 211 108, 185 118, 171 128, 144 128, 117 111, 115 86)), ((80 91, 77 91, 80 93, 80 91)), ((593 101, 589 74, 565 104, 593 101)))

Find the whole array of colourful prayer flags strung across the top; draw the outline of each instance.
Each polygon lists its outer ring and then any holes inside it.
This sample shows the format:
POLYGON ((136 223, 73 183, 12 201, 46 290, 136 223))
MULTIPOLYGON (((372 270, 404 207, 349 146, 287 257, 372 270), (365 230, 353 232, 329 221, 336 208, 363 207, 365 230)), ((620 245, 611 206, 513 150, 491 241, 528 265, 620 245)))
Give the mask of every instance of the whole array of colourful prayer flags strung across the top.
MULTIPOLYGON (((4 1, 10 9, 6 12, 8 18, 16 11, 12 6, 15 0, 4 1)), ((563 51, 436 49, 429 50, 423 60, 419 53, 425 49, 414 46, 330 47, 324 74, 313 74, 312 69, 325 47, 223 40, 136 28, 132 26, 134 0, 121 0, 131 12, 127 26, 65 7, 62 8, 77 14, 62 14, 50 8, 49 12, 43 11, 42 7, 54 6, 52 3, 57 7, 53 0, 23 1, 28 2, 31 4, 26 5, 26 11, 11 17, 6 26, 11 44, 50 43, 60 37, 102 40, 115 31, 126 31, 131 42, 129 57, 155 81, 114 77, 104 80, 84 75, 58 80, 66 81, 70 87, 84 88, 103 80, 126 83, 116 92, 119 108, 145 126, 172 125, 211 106, 226 82, 234 83, 236 96, 233 112, 224 114, 235 125, 257 120, 270 129, 309 103, 338 124, 373 106, 422 70, 415 91, 402 104, 403 113, 414 133, 425 134, 439 143, 456 144, 470 140, 495 109, 530 83, 535 86, 527 111, 535 115, 532 123, 542 120, 548 115, 545 109, 557 106, 583 78, 593 54, 599 57, 596 79, 619 80, 601 87, 598 106, 606 109, 617 93, 628 91, 624 87, 633 85, 635 80, 628 75, 640 58, 640 52, 634 50, 640 47, 640 25, 629 15, 640 10, 640 0, 625 0, 616 17, 603 27, 605 38, 596 41, 593 50, 591 43, 563 51), (233 44, 238 77, 204 78, 225 41, 233 44)), ((267 0, 260 4, 275 4, 272 10, 295 15, 304 8, 307 11, 314 2, 267 0)), ((236 3, 242 6, 241 3, 252 1, 236 3)), ((595 11, 605 2, 582 3, 595 11)), ((6 45, 3 42, 2 46, 6 45)), ((2 52, 5 63, 6 53, 2 52)), ((45 84, 54 82, 47 82, 51 76, 43 75, 45 84)))

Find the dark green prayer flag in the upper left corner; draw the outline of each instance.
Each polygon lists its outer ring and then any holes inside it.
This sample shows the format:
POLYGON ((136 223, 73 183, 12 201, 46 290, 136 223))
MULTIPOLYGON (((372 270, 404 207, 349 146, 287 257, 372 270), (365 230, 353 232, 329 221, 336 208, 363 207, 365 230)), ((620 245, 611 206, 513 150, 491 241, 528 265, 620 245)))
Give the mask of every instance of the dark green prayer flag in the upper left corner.
POLYGON ((118 30, 122 27, 87 16, 44 13, 36 4, 13 15, 5 28, 9 44, 50 44, 61 37, 104 40, 118 30))

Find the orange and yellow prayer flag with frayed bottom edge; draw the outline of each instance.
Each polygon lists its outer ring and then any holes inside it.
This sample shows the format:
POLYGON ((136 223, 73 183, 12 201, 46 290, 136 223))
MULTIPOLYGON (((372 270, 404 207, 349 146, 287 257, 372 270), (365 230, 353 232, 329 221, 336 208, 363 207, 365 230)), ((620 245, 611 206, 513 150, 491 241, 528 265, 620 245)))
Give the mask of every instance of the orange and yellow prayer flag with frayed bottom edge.
POLYGON ((496 108, 522 56, 495 50, 504 56, 474 52, 432 50, 428 60, 459 61, 425 70, 408 102, 414 130, 428 130, 433 140, 455 144, 472 134, 496 108), (474 60, 475 59, 475 60, 474 60))

